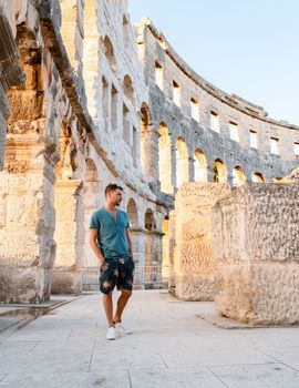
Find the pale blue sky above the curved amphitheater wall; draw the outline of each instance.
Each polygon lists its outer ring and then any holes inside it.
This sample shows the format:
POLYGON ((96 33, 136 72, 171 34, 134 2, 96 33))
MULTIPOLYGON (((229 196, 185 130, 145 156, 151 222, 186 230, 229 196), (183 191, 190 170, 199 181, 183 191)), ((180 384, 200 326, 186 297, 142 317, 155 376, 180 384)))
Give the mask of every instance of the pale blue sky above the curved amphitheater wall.
POLYGON ((299 125, 299 0, 128 0, 203 78, 299 125))

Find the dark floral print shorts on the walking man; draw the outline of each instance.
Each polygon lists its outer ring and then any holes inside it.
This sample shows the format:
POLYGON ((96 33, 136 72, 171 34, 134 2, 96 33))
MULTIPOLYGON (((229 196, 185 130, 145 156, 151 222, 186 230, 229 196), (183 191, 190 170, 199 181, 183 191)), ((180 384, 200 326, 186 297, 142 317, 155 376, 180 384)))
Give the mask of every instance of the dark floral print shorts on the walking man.
POLYGON ((106 257, 100 268, 100 290, 110 294, 117 289, 132 290, 135 264, 132 257, 106 257))

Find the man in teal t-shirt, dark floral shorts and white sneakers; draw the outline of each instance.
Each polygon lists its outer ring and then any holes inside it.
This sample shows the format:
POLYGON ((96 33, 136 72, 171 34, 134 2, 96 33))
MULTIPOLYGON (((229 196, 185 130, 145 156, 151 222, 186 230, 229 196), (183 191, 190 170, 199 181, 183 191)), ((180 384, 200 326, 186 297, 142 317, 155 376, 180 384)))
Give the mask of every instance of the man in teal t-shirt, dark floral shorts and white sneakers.
POLYGON ((125 212, 116 208, 123 200, 123 188, 109 184, 105 188, 105 206, 93 213, 90 223, 90 244, 101 263, 100 290, 107 318, 107 339, 116 334, 131 334, 122 324, 122 314, 132 295, 135 264, 132 254, 132 241, 127 228, 125 212), (117 286, 121 296, 113 316, 113 289, 117 286))

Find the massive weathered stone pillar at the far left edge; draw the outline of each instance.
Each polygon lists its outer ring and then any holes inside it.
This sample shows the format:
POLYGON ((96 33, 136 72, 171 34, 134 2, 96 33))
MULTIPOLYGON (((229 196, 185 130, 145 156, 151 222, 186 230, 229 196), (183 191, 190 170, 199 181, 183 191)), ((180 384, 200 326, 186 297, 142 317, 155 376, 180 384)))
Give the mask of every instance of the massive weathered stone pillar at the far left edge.
POLYGON ((38 134, 9 134, 0 174, 0 302, 50 298, 55 256, 54 163, 38 134))

